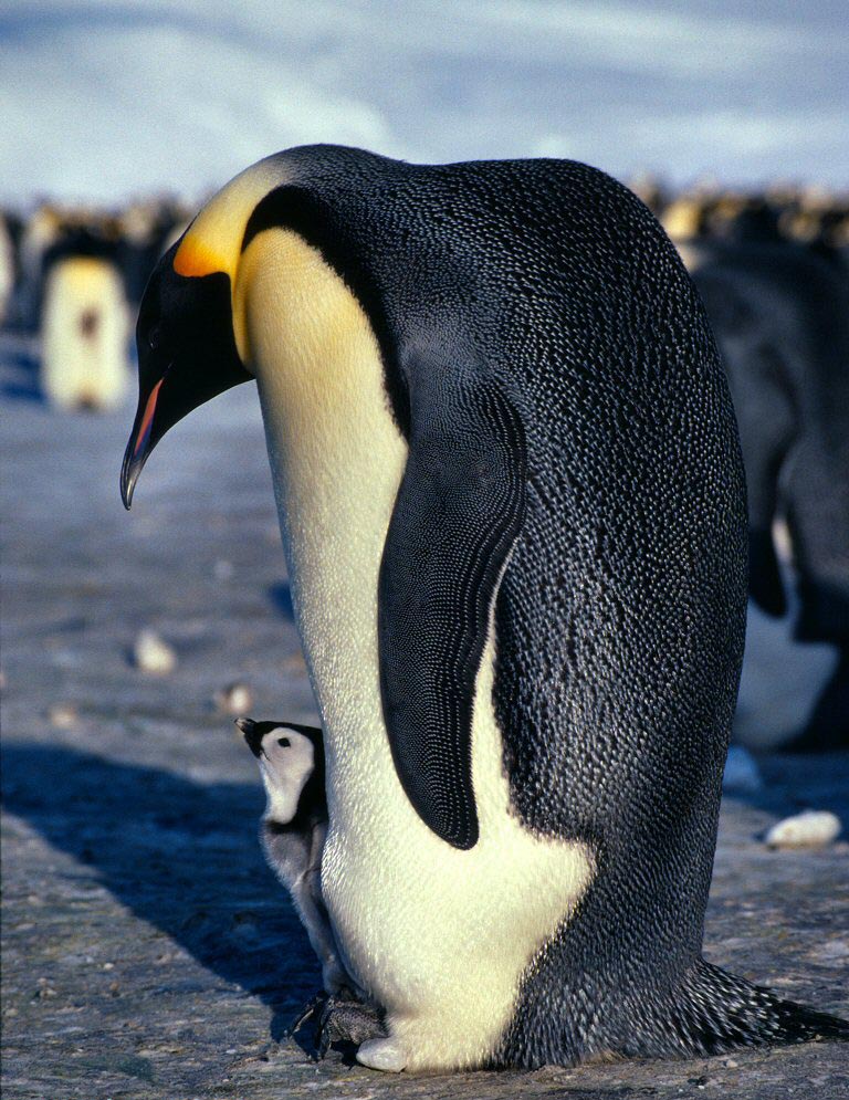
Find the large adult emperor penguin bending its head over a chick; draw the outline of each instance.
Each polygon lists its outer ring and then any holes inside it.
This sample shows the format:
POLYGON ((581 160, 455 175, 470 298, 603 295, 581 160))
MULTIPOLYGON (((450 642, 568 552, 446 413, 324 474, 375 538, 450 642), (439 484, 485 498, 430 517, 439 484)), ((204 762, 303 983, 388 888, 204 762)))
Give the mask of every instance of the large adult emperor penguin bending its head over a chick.
POLYGON ((743 468, 684 268, 581 164, 269 157, 165 254, 120 475, 255 378, 385 1070, 846 1035, 702 958, 743 468))

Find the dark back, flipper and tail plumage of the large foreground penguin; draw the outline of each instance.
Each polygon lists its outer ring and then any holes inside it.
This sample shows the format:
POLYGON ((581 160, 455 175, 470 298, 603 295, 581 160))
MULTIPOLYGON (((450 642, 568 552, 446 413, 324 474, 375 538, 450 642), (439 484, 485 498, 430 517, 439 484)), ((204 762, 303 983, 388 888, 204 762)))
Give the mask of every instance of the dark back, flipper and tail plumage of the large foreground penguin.
POLYGON ((409 443, 378 591, 398 777, 434 832, 474 847, 492 622, 512 810, 593 852, 493 1060, 813 1036, 808 1009, 701 957, 747 538, 726 380, 674 248, 585 165, 280 159, 290 182, 242 249, 284 227, 322 253, 369 318, 409 443))

